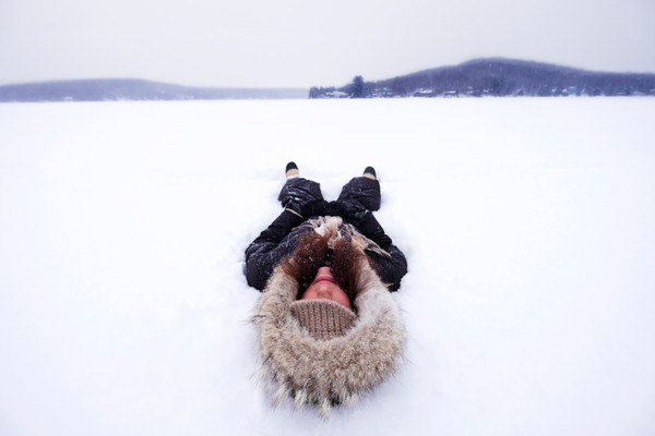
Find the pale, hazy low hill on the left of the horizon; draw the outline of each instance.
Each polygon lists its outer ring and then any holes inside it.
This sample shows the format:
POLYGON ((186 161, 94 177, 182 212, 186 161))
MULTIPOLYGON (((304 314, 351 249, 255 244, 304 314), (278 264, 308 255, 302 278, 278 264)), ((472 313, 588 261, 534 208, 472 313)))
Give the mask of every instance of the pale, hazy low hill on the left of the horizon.
POLYGON ((0 102, 275 98, 307 98, 307 89, 201 88, 132 78, 36 82, 0 86, 0 102))

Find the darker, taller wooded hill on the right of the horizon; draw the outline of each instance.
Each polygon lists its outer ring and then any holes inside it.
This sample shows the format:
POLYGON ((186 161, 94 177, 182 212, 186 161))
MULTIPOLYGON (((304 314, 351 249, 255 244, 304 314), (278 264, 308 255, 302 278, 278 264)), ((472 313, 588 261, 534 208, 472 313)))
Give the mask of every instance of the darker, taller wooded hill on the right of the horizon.
POLYGON ((310 98, 655 96, 655 74, 604 73, 512 59, 476 59, 378 82, 312 87, 310 98))

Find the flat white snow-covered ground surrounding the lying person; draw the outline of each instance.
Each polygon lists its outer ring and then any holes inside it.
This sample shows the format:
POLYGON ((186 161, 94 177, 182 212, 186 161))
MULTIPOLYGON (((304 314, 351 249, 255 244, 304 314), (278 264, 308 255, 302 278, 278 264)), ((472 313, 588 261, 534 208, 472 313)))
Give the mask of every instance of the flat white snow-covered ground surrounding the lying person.
POLYGON ((0 434, 652 435, 655 99, 0 105, 0 434), (407 363, 273 409, 243 250, 378 170, 407 363))

